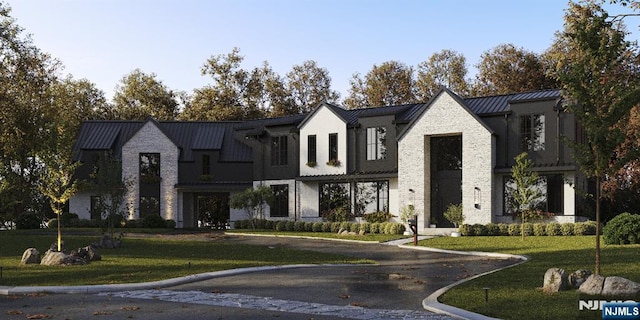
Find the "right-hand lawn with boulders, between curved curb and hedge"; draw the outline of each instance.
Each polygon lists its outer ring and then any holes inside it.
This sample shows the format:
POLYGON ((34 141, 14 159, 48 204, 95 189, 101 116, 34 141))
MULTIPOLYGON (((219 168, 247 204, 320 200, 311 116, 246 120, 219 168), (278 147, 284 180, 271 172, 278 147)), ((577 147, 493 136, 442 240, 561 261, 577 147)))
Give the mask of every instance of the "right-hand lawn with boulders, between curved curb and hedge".
MULTIPOLYGON (((595 237, 442 237, 423 240, 420 245, 459 250, 525 255, 529 261, 456 286, 440 301, 465 310, 501 319, 600 319, 599 311, 579 311, 581 296, 576 290, 546 294, 540 290, 548 268, 594 270, 595 237), (485 302, 483 288, 490 288, 485 302)), ((604 245, 601 274, 640 282, 640 245, 604 245)), ((606 300, 606 299, 605 299, 606 300)), ((638 298, 636 298, 638 300, 638 298)))

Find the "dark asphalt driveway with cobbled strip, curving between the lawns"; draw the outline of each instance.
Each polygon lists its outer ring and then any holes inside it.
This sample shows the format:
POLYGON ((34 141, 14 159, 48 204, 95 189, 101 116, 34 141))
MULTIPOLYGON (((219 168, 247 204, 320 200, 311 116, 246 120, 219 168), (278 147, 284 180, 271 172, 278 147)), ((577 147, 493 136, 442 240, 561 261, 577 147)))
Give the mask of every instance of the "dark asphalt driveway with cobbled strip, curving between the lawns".
POLYGON ((372 315, 378 310, 401 311, 398 318, 446 319, 425 311, 422 300, 451 283, 516 262, 317 239, 229 236, 214 241, 341 253, 378 264, 274 269, 142 292, 0 296, 0 319, 392 318, 372 315), (363 310, 370 312, 359 315, 363 310))

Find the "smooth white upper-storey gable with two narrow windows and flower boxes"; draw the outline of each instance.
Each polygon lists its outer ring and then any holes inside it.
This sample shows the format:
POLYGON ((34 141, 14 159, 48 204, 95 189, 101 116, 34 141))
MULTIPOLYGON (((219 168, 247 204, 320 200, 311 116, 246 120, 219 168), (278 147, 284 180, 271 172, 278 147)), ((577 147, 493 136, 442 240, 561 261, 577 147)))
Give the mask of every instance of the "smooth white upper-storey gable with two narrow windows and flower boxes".
POLYGON ((347 173, 346 110, 321 103, 298 126, 300 175, 347 173))

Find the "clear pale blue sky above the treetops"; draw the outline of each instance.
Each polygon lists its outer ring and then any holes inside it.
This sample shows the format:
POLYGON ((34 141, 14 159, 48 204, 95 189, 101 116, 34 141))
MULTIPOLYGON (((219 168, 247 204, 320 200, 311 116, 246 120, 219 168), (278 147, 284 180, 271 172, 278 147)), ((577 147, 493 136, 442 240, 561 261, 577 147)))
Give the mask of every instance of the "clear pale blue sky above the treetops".
MULTIPOLYGON (((251 70, 284 76, 314 60, 344 99, 354 73, 399 61, 417 67, 443 49, 463 54, 470 76, 482 53, 511 43, 535 53, 563 28, 565 0, 9 0, 34 44, 63 75, 88 79, 111 99, 139 68, 169 89, 211 83, 208 58, 234 47, 251 70)), ((619 6, 609 13, 629 12, 619 6)), ((637 30, 640 18, 629 20, 637 30)))

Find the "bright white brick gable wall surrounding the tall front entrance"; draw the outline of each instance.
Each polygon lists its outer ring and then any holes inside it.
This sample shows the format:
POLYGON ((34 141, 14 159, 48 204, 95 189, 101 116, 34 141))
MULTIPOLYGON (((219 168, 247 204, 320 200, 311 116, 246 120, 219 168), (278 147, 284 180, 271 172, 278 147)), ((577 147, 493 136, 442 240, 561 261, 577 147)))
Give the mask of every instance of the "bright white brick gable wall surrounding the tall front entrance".
POLYGON ((462 206, 465 223, 489 223, 493 214, 495 137, 449 93, 442 92, 398 142, 400 206, 414 205, 420 228, 428 226, 431 203, 430 136, 462 135, 462 206), (474 206, 479 188, 480 207, 474 206), (415 194, 409 191, 415 190, 415 194))

